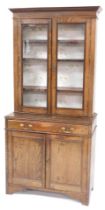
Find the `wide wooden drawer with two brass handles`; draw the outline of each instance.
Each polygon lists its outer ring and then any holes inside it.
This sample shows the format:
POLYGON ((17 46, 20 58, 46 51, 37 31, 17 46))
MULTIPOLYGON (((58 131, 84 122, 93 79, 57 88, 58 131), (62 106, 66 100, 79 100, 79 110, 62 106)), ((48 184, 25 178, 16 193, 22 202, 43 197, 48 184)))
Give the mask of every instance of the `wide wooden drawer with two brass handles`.
POLYGON ((58 122, 39 122, 24 120, 8 120, 8 129, 36 131, 40 133, 61 133, 61 134, 79 134, 88 135, 88 126, 71 125, 58 122))

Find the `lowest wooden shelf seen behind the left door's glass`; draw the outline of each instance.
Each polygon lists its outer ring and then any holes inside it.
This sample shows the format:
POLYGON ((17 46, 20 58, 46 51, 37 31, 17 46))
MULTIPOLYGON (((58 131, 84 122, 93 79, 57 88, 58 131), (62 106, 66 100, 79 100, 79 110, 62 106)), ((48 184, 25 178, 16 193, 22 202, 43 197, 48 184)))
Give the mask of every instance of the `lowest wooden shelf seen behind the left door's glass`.
POLYGON ((23 86, 23 90, 27 91, 27 92, 46 93, 47 87, 45 87, 45 86, 23 86))

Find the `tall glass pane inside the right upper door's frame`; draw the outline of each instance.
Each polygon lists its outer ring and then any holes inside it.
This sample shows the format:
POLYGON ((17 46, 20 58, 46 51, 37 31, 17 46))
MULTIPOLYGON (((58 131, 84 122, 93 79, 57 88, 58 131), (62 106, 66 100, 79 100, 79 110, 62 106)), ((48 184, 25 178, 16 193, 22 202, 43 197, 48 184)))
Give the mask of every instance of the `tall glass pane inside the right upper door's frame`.
POLYGON ((84 24, 58 24, 58 108, 83 108, 84 40, 84 24))

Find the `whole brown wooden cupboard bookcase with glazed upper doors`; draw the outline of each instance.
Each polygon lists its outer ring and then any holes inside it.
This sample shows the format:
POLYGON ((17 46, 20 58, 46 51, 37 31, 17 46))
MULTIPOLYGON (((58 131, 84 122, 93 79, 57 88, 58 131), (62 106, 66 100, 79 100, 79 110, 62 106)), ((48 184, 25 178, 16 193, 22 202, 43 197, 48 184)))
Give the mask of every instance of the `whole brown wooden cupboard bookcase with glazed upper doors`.
POLYGON ((88 204, 99 7, 10 10, 14 113, 6 116, 7 193, 37 189, 88 204))

